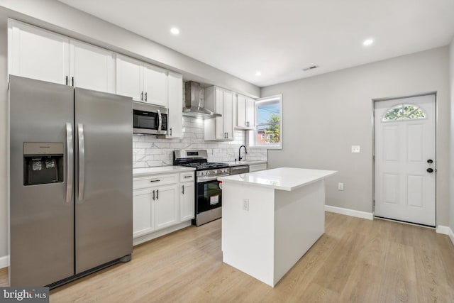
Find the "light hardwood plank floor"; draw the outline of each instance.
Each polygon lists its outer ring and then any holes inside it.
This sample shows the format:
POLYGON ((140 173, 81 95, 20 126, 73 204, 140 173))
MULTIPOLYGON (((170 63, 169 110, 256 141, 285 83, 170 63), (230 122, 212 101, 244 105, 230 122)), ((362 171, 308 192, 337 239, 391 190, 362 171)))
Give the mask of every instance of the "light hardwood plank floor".
POLYGON ((271 288, 222 263, 217 220, 136 246, 50 302, 454 302, 454 246, 432 229, 326 213, 326 232, 271 288))

